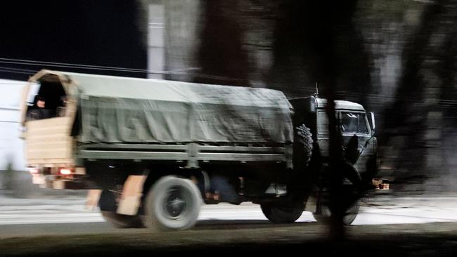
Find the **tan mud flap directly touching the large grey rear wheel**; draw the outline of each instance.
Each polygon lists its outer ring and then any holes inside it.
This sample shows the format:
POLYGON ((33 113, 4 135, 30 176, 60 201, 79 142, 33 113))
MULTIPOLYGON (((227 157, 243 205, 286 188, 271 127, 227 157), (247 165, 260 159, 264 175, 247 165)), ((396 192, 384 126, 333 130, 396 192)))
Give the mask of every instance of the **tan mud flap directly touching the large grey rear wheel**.
POLYGON ((138 213, 141 196, 143 196, 143 185, 147 177, 146 175, 130 175, 125 180, 116 213, 124 215, 136 215, 138 213))

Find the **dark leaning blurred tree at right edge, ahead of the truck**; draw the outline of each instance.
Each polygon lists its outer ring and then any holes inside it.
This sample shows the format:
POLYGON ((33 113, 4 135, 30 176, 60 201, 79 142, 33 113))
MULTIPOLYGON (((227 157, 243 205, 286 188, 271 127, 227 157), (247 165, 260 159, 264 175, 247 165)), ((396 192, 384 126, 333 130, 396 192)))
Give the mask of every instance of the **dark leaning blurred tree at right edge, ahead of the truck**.
POLYGON ((397 92, 385 114, 380 143, 396 150, 390 166, 397 182, 415 183, 418 190, 427 189, 428 178, 445 175, 443 132, 456 121, 444 119, 455 117, 447 103, 456 99, 456 4, 425 4, 418 29, 404 46, 397 92))

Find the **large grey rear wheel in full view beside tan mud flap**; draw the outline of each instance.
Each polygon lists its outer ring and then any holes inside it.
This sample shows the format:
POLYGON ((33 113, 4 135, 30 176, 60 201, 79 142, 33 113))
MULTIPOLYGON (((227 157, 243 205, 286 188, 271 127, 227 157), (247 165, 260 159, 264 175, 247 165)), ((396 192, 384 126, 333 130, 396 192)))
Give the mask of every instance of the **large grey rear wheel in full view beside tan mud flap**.
POLYGON ((186 230, 197 222, 202 197, 191 180, 165 176, 157 180, 146 196, 143 223, 157 230, 186 230))

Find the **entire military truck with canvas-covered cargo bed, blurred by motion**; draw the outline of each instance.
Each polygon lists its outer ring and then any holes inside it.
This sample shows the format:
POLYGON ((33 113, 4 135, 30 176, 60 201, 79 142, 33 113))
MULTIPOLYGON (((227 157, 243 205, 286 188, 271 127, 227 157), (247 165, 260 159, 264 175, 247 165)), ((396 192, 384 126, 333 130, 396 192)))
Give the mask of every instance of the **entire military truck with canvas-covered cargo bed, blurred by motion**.
MULTIPOLYGON (((259 204, 273 223, 305 207, 316 220, 329 215, 328 117, 316 95, 51 70, 22 95, 34 183, 89 190, 88 206, 118 228, 192 228, 203 203, 219 202, 259 204), (31 115, 35 95, 46 117, 31 115)), ((374 116, 340 100, 335 111, 342 146, 355 152, 341 165, 345 184, 358 196, 376 170, 374 116)), ((346 207, 349 224, 356 197, 346 207)))

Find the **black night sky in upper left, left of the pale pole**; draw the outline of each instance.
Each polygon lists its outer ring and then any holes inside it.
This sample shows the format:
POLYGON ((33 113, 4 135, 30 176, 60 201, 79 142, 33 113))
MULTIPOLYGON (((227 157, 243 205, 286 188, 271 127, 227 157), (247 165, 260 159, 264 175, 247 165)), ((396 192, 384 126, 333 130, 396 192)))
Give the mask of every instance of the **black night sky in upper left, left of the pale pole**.
POLYGON ((43 68, 146 77, 144 72, 41 63, 146 70, 146 17, 139 1, 8 2, 0 11, 0 79, 27 80, 30 74, 43 68), (24 60, 40 63, 25 65, 24 60))

